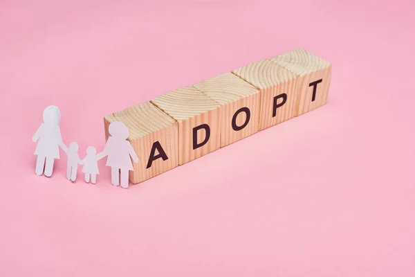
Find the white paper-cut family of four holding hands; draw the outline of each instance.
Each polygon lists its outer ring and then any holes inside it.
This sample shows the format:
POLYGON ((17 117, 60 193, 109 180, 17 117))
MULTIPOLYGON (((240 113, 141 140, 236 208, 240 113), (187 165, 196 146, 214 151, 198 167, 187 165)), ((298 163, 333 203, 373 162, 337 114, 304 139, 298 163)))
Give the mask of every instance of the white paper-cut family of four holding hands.
POLYGON ((122 188, 128 188, 129 170, 133 170, 131 159, 138 163, 138 156, 133 150, 131 143, 127 141, 129 131, 127 126, 121 122, 113 122, 109 125, 109 139, 104 146, 104 150, 97 154, 97 150, 89 146, 86 148, 86 157, 80 159, 77 151, 79 149, 77 143, 69 144, 69 148, 62 141, 59 128, 61 114, 56 106, 46 107, 43 113, 44 123, 37 129, 33 135, 33 142, 37 142, 35 155, 36 175, 44 174, 50 177, 53 173, 53 164, 55 159, 59 159, 59 147, 64 150, 68 157, 66 178, 71 181, 76 180, 77 166, 82 165, 82 172, 85 175, 86 183, 91 181, 95 184, 98 170, 98 161, 107 157, 106 166, 111 167, 111 184, 122 188))

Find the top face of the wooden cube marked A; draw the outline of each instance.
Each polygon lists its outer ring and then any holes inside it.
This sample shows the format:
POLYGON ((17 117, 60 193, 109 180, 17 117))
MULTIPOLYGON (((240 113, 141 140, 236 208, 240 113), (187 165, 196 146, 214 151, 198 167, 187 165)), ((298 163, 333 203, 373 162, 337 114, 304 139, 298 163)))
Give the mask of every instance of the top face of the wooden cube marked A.
POLYGON ((167 116, 150 102, 142 102, 139 105, 117 111, 105 116, 104 119, 109 123, 113 121, 124 123, 129 130, 129 141, 176 124, 173 118, 167 116))

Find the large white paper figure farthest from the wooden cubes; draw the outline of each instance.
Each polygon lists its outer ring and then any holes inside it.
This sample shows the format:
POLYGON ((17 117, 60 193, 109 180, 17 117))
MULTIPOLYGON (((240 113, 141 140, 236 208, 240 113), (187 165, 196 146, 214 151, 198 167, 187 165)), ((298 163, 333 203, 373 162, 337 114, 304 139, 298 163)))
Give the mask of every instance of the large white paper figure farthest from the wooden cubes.
POLYGON ((36 142, 35 155, 36 175, 45 174, 50 177, 53 172, 53 163, 55 159, 59 159, 59 146, 66 150, 66 145, 62 142, 62 136, 59 129, 60 111, 56 106, 46 107, 43 113, 43 120, 33 135, 32 141, 36 142))

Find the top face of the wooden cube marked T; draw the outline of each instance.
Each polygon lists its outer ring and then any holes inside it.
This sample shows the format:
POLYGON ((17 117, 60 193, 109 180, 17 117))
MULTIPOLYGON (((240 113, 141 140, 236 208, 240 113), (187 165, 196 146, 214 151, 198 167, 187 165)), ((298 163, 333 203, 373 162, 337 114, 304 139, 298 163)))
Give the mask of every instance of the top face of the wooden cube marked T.
POLYGON ((297 49, 284 53, 277 57, 273 57, 271 60, 299 76, 304 76, 331 66, 330 62, 327 62, 321 57, 311 54, 304 49, 297 49))

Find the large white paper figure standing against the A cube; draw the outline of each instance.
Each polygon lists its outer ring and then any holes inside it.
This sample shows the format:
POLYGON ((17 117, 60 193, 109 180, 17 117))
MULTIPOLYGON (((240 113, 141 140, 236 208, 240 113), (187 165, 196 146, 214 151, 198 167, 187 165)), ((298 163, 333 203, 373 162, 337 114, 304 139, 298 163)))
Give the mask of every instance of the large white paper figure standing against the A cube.
POLYGON ((110 123, 108 132, 110 136, 104 150, 97 155, 98 159, 108 156, 106 166, 111 167, 111 184, 118 186, 121 183, 122 188, 128 188, 128 172, 133 170, 131 159, 138 163, 137 154, 131 143, 127 141, 129 132, 124 123, 119 121, 110 123))

